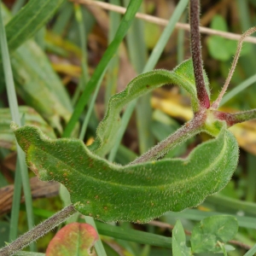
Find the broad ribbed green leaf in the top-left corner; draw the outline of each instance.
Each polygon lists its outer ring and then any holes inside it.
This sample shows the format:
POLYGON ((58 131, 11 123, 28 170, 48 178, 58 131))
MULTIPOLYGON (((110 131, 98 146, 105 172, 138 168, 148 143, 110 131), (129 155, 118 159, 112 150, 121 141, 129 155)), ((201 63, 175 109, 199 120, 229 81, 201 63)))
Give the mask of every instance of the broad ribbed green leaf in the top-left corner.
POLYGON ((30 0, 6 26, 9 51, 17 49, 45 25, 65 0, 30 0))

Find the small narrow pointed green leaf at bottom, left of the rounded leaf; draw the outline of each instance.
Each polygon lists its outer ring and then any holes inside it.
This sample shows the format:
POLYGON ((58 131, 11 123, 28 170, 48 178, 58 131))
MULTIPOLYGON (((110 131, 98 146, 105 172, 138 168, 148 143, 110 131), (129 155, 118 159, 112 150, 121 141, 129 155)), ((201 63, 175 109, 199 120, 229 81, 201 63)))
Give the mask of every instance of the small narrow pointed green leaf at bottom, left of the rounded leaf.
POLYGON ((186 236, 183 230, 183 224, 177 220, 172 230, 172 255, 173 256, 190 256, 191 248, 186 246, 186 236))

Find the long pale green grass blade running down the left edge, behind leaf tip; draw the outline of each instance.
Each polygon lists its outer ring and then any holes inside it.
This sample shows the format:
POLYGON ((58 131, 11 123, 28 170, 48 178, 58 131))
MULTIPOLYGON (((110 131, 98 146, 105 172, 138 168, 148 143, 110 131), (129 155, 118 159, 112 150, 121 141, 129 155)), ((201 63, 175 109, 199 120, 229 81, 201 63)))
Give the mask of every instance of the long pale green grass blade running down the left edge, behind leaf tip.
MULTIPOLYGON (((5 29, 3 26, 1 1, 0 1, 0 44, 1 44, 2 56, 4 60, 3 73, 4 73, 5 83, 6 83, 7 94, 8 94, 10 112, 12 115, 12 119, 17 124, 21 125, 18 102, 17 102, 16 93, 15 93, 15 83, 14 83, 13 73, 12 73, 10 59, 9 59, 9 50, 7 45, 5 29)), ((25 154, 21 150, 18 144, 17 144, 17 154, 18 154, 18 165, 19 165, 22 185, 24 189, 24 195, 26 198, 25 202, 26 202, 27 223, 28 223, 28 228, 32 229, 32 227, 34 226, 33 212, 32 212, 32 195, 31 195, 28 172, 27 172, 26 163, 25 163, 25 154)), ((18 176, 18 181, 19 181, 19 176, 18 176)), ((18 189, 19 189, 19 186, 18 186, 18 189)), ((35 244, 32 243, 31 249, 34 250, 34 248, 35 248, 35 244)))

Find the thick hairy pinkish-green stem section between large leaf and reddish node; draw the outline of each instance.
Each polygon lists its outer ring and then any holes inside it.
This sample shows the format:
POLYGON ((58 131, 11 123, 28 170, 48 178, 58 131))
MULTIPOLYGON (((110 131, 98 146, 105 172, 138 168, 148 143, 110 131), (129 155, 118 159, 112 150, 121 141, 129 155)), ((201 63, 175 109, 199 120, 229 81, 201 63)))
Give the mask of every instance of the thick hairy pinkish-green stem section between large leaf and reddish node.
POLYGON ((136 160, 132 161, 129 165, 143 163, 149 160, 157 160, 160 157, 163 157, 178 144, 183 143, 190 137, 194 137, 196 134, 200 133, 206 117, 207 115, 203 111, 196 113, 195 117, 188 123, 175 131, 171 136, 149 149, 147 153, 142 154, 136 160))

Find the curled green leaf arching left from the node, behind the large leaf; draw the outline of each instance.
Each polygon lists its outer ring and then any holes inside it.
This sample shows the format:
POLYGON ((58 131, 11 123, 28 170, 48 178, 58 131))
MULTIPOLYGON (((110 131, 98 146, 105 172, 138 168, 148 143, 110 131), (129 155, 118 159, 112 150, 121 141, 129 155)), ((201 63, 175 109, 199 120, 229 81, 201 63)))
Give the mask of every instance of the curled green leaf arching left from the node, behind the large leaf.
MULTIPOLYGON (((207 76, 205 80, 208 90, 207 76)), ((184 61, 171 72, 167 70, 154 70, 143 73, 131 80, 126 89, 112 96, 108 103, 108 112, 96 131, 96 141, 90 146, 95 154, 104 156, 113 148, 115 137, 118 134, 121 122, 119 113, 125 105, 139 96, 147 94, 164 84, 176 84, 189 92, 194 111, 198 110, 199 102, 196 96, 195 78, 192 61, 184 61)))

